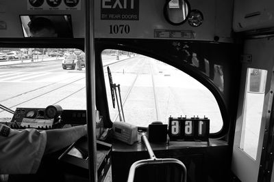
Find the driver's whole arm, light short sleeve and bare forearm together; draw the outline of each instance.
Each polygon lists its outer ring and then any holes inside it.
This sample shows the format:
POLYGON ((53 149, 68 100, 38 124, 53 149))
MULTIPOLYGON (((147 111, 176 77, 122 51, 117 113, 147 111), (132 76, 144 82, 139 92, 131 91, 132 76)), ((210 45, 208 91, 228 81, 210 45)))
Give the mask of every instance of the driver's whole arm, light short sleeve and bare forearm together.
POLYGON ((86 135, 86 125, 19 132, 0 124, 0 174, 36 173, 45 153, 58 151, 86 135))

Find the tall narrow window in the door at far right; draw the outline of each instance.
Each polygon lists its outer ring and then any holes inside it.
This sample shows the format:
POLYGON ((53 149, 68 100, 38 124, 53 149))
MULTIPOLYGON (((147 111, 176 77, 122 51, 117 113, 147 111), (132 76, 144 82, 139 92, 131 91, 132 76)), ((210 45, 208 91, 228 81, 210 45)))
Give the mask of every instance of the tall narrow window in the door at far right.
POLYGON ((255 68, 248 68, 247 70, 240 149, 254 160, 256 160, 262 123, 266 76, 266 70, 255 68))

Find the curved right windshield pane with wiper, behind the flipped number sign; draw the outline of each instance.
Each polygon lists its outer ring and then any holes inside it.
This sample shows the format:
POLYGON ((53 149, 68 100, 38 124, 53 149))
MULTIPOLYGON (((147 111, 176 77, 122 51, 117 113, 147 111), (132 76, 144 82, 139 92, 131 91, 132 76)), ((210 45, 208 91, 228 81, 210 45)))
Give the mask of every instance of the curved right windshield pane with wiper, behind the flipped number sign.
POLYGON ((169 117, 208 117, 210 133, 223 127, 219 106, 212 93, 200 82, 162 61, 122 50, 101 52, 108 106, 112 121, 147 127, 153 121, 168 123, 169 117), (108 68, 116 93, 111 93, 108 68), (119 93, 120 89, 120 93, 119 93), (112 94, 121 94, 120 115, 112 94), (122 112, 123 111, 123 112, 122 112))

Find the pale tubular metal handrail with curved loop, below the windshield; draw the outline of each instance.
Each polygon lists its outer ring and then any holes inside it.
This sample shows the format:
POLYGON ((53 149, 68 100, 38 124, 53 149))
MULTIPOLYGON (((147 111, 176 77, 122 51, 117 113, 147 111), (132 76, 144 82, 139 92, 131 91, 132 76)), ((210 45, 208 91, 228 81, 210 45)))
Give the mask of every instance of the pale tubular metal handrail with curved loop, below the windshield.
POLYGON ((127 182, 133 182, 135 171, 137 168, 141 166, 148 166, 148 165, 155 165, 155 164, 177 164, 181 168, 181 179, 180 181, 186 182, 186 166, 184 164, 173 158, 166 158, 166 159, 158 159, 155 157, 153 150, 151 149, 151 146, 149 145, 149 141, 147 140, 147 137, 145 136, 145 133, 142 133, 142 140, 145 142, 145 146, 147 147, 147 151, 149 152, 150 159, 149 160, 139 160, 137 162, 134 162, 132 166, 129 169, 129 177, 127 178, 127 182))

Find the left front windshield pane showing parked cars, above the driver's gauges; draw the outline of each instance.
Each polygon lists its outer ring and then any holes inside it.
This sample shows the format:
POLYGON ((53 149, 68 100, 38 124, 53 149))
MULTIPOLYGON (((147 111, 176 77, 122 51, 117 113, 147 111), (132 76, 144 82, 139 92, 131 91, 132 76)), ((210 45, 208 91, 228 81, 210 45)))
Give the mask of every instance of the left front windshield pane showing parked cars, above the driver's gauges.
MULTIPOLYGON (((85 63, 75 48, 0 48, 0 104, 86 110, 85 63), (67 57, 73 59, 68 60, 67 57)), ((12 113, 0 110, 0 118, 12 113)))

